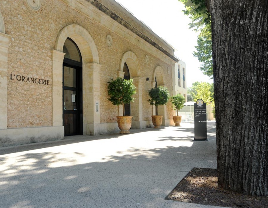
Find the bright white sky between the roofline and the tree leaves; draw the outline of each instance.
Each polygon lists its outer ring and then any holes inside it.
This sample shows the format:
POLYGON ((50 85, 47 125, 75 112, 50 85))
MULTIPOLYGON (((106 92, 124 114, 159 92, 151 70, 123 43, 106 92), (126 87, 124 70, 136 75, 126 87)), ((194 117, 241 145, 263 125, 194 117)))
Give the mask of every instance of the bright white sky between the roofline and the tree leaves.
POLYGON ((186 63, 187 87, 191 87, 191 84, 196 81, 213 83, 212 79, 201 72, 199 69, 201 63, 193 56, 198 33, 189 29, 188 24, 191 20, 182 12, 185 8, 181 2, 178 0, 116 1, 177 50, 175 56, 186 63))

